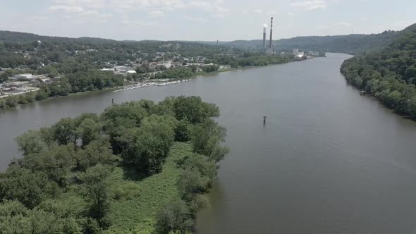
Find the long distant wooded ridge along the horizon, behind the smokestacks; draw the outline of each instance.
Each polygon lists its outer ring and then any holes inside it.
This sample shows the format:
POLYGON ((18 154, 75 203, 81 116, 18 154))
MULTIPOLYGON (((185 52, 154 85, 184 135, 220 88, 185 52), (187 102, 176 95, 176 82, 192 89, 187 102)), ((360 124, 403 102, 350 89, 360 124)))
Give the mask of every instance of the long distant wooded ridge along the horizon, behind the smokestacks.
MULTIPOLYGON (((336 35, 336 36, 306 36, 293 37, 289 39, 279 39, 273 41, 276 44, 276 49, 279 51, 291 51, 298 48, 301 51, 326 51, 326 52, 340 52, 347 54, 359 54, 365 51, 374 49, 381 49, 393 42, 400 36, 400 33, 406 30, 416 29, 416 24, 406 27, 402 31, 384 31, 379 34, 363 35, 336 35)), ((260 35, 259 35, 260 36, 260 35)), ((114 40, 102 39, 97 37, 49 37, 41 36, 27 32, 11 32, 0 30, 0 42, 14 42, 14 43, 30 43, 37 40, 51 41, 55 43, 71 43, 77 44, 117 44, 117 43, 134 43, 134 42, 162 42, 158 40, 114 40)), ((202 44, 216 45, 217 42, 204 41, 183 41, 173 40, 170 42, 197 42, 202 44)), ((232 42, 218 42, 220 46, 236 47, 238 49, 259 50, 262 49, 262 39, 254 40, 235 40, 232 42)))

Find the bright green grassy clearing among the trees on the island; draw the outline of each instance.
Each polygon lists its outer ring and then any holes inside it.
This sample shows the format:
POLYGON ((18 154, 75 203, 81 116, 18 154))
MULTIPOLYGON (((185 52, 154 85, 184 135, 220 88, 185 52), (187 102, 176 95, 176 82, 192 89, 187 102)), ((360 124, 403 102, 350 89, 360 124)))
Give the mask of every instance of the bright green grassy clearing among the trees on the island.
POLYGON ((110 187, 114 193, 110 218, 112 226, 106 233, 152 233, 158 209, 179 197, 176 181, 181 174, 177 162, 192 153, 188 143, 175 142, 161 173, 140 181, 123 178, 123 169, 116 168, 110 187))

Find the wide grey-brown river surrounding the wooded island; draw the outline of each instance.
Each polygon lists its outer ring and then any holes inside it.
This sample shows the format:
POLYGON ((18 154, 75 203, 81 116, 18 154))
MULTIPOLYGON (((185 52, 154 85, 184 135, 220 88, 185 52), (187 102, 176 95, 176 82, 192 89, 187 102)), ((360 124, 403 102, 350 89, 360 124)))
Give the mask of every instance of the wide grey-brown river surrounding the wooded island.
POLYGON ((3 111, 1 169, 18 156, 20 133, 101 112, 111 98, 199 95, 220 106, 231 153, 198 233, 416 233, 416 123, 345 84, 339 68, 350 56, 327 55, 3 111))

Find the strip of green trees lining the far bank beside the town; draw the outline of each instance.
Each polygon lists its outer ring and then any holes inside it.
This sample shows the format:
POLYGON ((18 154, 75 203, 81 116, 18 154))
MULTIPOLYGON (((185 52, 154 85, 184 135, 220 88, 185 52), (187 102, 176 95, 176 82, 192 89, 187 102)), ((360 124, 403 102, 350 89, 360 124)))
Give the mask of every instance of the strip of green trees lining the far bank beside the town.
MULTIPOLYGON (((227 56, 228 57, 228 56, 227 56)), ((241 68, 258 68, 269 65, 276 65, 281 63, 289 63, 292 58, 288 56, 259 56, 258 54, 246 54, 244 59, 235 60, 235 58, 224 58, 219 56, 216 59, 222 59, 222 63, 226 65, 233 64, 236 67, 219 69, 217 65, 204 66, 202 70, 198 71, 197 66, 168 68, 161 73, 157 73, 154 77, 143 80, 142 74, 136 73, 124 77, 123 75, 116 75, 110 71, 102 70, 88 70, 84 73, 75 73, 61 78, 59 82, 52 85, 41 85, 36 92, 29 92, 26 94, 13 95, 0 99, 0 111, 16 107, 18 105, 29 104, 34 101, 42 101, 51 97, 69 96, 73 94, 84 94, 87 92, 96 92, 102 90, 115 89, 126 86, 123 81, 125 78, 128 81, 140 80, 143 84, 152 82, 153 80, 178 80, 186 78, 196 78, 197 76, 214 75, 231 70, 238 70, 241 68), (224 60, 225 59, 225 60, 224 60), (237 63, 234 63, 237 61, 237 63), (161 74, 161 75, 159 75, 161 74)), ((147 68, 137 68, 137 70, 146 70, 147 68)))

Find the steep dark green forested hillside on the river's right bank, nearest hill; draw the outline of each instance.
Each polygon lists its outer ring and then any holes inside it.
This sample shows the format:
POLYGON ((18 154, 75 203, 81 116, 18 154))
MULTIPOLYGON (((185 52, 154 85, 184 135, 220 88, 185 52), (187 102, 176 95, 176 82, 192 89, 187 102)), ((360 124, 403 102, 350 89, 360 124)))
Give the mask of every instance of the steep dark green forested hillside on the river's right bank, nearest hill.
POLYGON ((348 59, 341 72, 351 85, 400 113, 416 116, 416 24, 384 49, 348 59))

